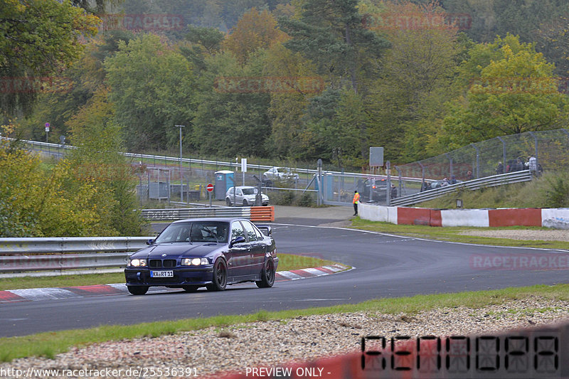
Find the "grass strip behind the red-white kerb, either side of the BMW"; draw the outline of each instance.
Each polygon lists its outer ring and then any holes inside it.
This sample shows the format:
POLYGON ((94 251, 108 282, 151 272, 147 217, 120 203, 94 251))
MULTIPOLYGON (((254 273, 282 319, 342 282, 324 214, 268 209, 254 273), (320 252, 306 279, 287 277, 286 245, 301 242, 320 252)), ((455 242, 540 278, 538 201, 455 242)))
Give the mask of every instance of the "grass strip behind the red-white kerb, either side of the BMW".
MULTIPOLYGON (((321 267, 334 265, 331 260, 321 260, 306 255, 279 254, 279 271, 291 269, 305 269, 308 267, 321 267)), ((77 287, 96 284, 122 283, 124 274, 85 274, 62 275, 60 277, 20 277, 0 280, 0 291, 6 289, 45 288, 45 287, 77 287)))

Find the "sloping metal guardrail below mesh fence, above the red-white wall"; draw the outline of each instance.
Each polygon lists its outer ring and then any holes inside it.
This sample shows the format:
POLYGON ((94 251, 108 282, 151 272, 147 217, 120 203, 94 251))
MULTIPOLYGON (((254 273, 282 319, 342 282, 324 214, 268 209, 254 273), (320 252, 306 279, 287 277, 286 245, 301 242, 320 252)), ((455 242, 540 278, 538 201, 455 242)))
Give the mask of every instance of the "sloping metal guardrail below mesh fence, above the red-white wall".
POLYGON ((504 184, 521 183, 523 181, 531 181, 533 175, 531 171, 516 171, 507 174, 500 174, 494 176, 487 176, 486 178, 474 179, 472 181, 464 181, 449 186, 435 188, 428 191, 422 191, 409 196, 395 198, 390 202, 390 205, 412 205, 422 201, 432 200, 446 193, 451 193, 459 188, 468 188, 470 190, 477 190, 484 187, 503 186, 504 184))

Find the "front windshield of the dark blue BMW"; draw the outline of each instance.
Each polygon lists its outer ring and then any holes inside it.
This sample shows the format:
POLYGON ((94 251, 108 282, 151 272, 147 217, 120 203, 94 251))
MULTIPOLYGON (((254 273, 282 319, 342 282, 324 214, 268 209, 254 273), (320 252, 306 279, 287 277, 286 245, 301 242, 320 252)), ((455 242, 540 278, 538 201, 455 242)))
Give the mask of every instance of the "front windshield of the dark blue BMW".
POLYGON ((198 221, 168 225, 155 243, 227 242, 228 224, 219 221, 198 221))

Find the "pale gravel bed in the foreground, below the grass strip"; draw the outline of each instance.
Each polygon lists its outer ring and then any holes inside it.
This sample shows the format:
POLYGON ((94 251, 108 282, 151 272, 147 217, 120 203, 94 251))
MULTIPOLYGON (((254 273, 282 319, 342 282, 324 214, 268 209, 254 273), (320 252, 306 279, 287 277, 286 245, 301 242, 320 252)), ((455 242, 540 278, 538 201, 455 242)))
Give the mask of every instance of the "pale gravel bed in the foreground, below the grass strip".
MULTIPOLYGON (((569 301, 531 297, 485 306, 455 307, 418 314, 377 312, 299 316, 280 321, 257 321, 224 328, 208 328, 157 338, 97 343, 72 348, 55 359, 20 358, 2 363, 7 370, 116 368, 195 368, 201 376, 256 365, 359 351, 363 336, 450 336, 497 333, 508 329, 569 321, 569 301)), ((216 375, 219 377, 219 375, 216 375)))

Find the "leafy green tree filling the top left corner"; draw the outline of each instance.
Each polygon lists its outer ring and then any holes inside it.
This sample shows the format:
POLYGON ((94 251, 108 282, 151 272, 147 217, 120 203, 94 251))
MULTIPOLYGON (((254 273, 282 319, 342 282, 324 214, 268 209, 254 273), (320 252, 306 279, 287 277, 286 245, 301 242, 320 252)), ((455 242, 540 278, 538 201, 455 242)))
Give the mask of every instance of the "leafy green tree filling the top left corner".
POLYGON ((80 56, 80 36, 94 36, 98 22, 69 1, 0 0, 1 110, 31 112, 39 90, 51 81, 46 77, 80 56))

